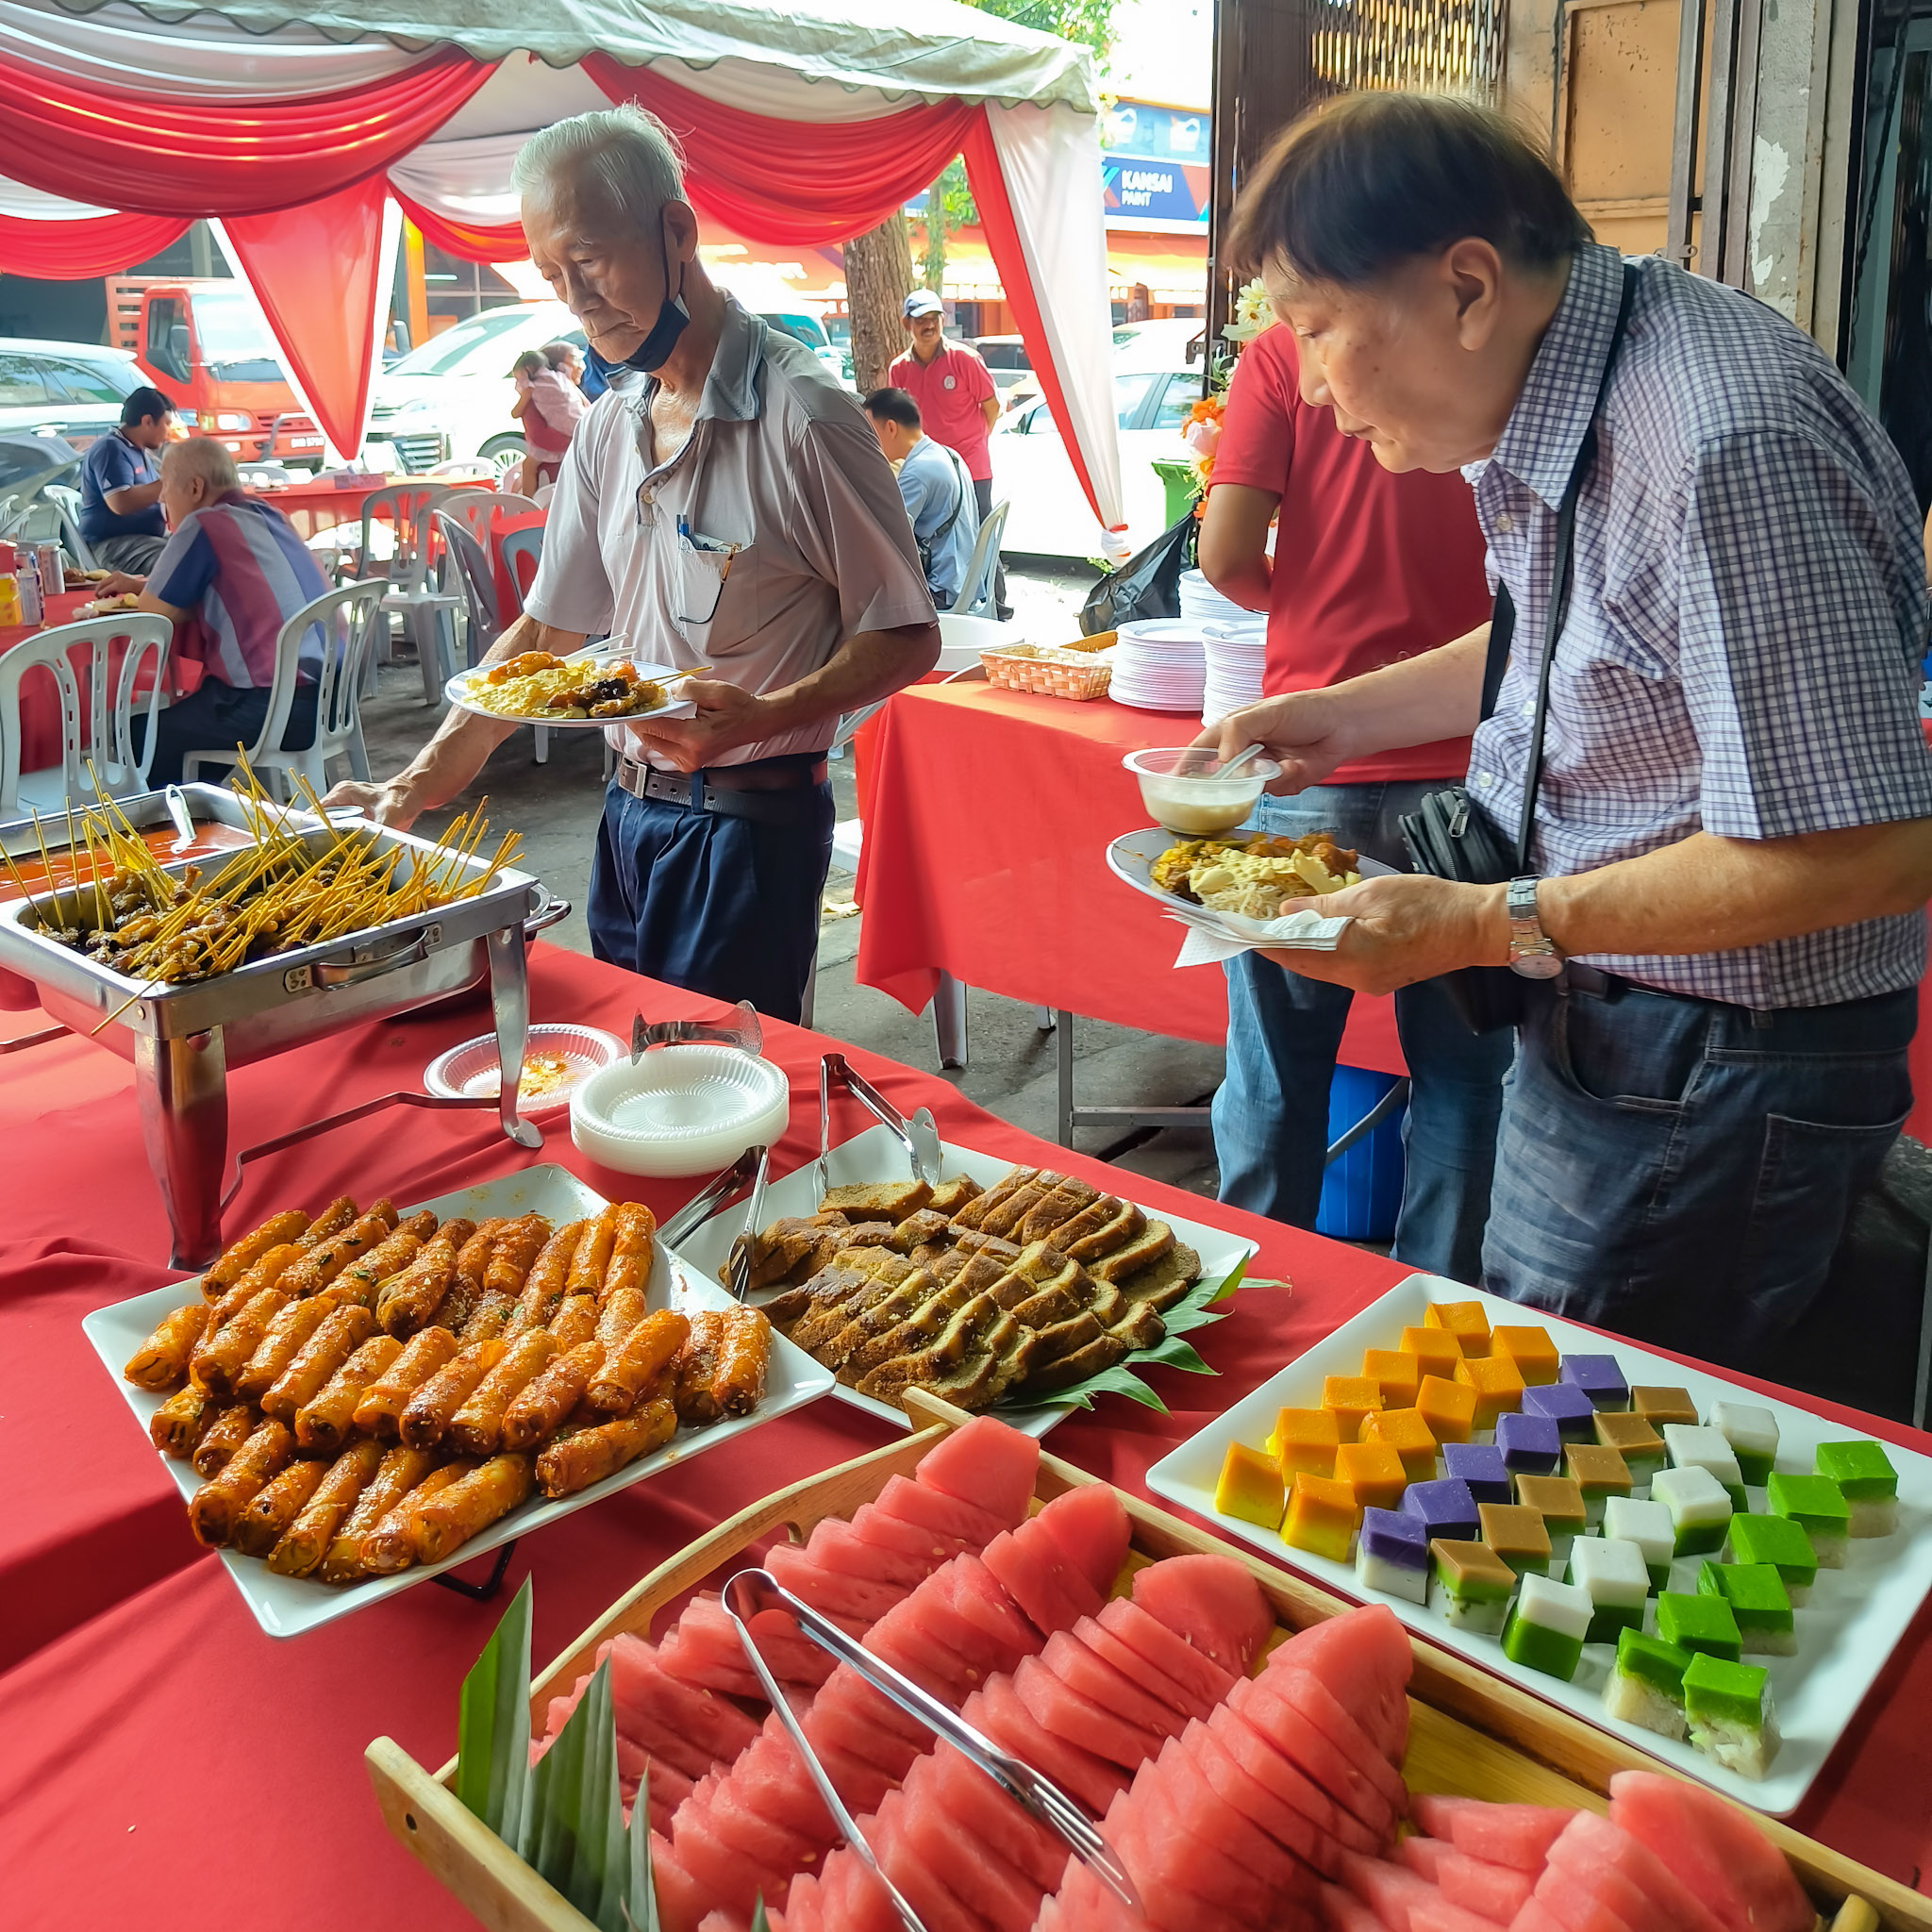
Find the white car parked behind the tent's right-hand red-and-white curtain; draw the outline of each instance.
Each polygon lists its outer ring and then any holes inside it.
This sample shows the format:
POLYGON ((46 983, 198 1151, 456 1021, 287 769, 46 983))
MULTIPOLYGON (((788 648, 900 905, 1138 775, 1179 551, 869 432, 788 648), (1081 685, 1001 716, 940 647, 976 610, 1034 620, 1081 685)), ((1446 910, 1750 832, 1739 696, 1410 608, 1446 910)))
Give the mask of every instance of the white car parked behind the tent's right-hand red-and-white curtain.
MULTIPOLYGON (((1121 487, 1126 535, 1138 551, 1167 527, 1167 491, 1153 471, 1157 458, 1186 462, 1180 440, 1188 412, 1200 402, 1198 369, 1132 369, 1113 379, 1121 437, 1121 487)), ((993 502, 1010 502, 1001 551, 1041 556, 1099 556, 1099 518, 1061 442, 1045 402, 1009 410, 993 425, 993 502)))

